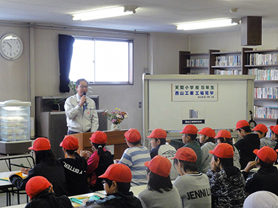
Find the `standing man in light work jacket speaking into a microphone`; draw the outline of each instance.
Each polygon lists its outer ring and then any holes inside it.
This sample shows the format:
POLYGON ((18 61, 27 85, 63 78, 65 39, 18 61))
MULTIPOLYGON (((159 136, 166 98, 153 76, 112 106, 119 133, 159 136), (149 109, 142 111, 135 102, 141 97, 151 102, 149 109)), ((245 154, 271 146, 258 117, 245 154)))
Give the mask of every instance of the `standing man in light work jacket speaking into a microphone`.
POLYGON ((86 96, 88 82, 85 79, 76 81, 77 94, 65 101, 67 116, 67 135, 81 132, 95 132, 99 128, 99 117, 95 101, 86 96))

